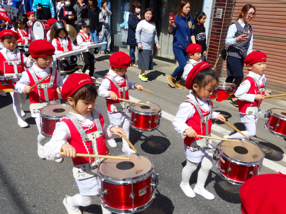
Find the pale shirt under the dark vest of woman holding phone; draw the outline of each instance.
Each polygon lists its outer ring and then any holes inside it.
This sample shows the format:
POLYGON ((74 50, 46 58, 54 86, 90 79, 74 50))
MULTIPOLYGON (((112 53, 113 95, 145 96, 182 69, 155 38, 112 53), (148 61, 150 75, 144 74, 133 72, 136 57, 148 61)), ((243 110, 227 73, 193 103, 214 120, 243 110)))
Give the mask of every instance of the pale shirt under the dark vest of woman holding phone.
MULTIPOLYGON (((244 28, 245 23, 241 19, 239 19, 239 23, 242 25, 242 28, 244 28)), ((246 24, 248 25, 248 23, 246 24)), ((236 37, 235 37, 236 31, 237 31, 236 25, 231 24, 228 28, 227 36, 225 39, 226 46, 233 45, 236 43, 236 37)), ((246 48, 247 48, 247 55, 248 55, 249 53, 252 52, 252 48, 253 48, 253 33, 251 35, 251 39, 249 43, 247 44, 246 48)))

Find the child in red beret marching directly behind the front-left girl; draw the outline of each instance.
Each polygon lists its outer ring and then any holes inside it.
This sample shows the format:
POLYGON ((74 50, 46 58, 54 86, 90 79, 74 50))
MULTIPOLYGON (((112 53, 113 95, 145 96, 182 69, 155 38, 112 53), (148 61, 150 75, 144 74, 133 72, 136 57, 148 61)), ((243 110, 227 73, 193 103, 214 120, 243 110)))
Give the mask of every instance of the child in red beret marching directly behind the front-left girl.
MULTIPOLYGON (((29 46, 31 57, 36 63, 29 68, 27 71, 22 73, 20 81, 15 85, 15 89, 19 93, 28 93, 30 98, 30 111, 31 116, 35 118, 38 127, 38 155, 40 158, 44 158, 42 147, 44 145, 45 137, 41 134, 40 127, 40 109, 50 104, 60 104, 61 101, 58 97, 60 91, 57 84, 62 86, 62 79, 60 73, 55 69, 51 68, 50 65, 53 62, 53 55, 55 53, 54 46, 46 40, 36 40, 29 46), (36 83, 41 81, 42 78, 51 74, 41 84, 31 89, 36 83)), ((59 159, 57 162, 61 162, 59 159)))

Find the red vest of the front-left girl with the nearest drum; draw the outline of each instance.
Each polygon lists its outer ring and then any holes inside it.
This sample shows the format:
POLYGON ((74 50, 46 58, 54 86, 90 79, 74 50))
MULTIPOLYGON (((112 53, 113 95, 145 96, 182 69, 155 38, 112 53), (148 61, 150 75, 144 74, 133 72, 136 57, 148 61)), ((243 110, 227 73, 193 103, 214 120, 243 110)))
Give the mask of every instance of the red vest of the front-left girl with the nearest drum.
MULTIPOLYGON (((99 116, 101 126, 104 126, 104 118, 102 115, 99 116)), ((82 137, 80 135, 80 132, 77 130, 76 126, 74 125, 73 121, 69 119, 62 119, 63 122, 66 123, 66 125, 69 128, 70 132, 70 139, 67 140, 67 142, 75 147, 78 153, 83 153, 83 154, 93 154, 93 149, 92 149, 92 143, 91 141, 88 142, 83 142, 82 137)), ((93 121, 94 124, 94 121, 93 121)), ((88 127, 82 126, 82 128, 85 130, 85 132, 91 133, 97 131, 97 126, 94 124, 94 126, 87 130, 88 127)), ((107 155, 109 153, 109 150, 105 144, 105 136, 101 138, 97 138, 97 147, 98 147, 98 152, 100 155, 107 155)), ((89 158, 89 157, 76 157, 73 158, 74 166, 80 165, 80 164, 88 164, 94 161, 94 158, 89 158)))

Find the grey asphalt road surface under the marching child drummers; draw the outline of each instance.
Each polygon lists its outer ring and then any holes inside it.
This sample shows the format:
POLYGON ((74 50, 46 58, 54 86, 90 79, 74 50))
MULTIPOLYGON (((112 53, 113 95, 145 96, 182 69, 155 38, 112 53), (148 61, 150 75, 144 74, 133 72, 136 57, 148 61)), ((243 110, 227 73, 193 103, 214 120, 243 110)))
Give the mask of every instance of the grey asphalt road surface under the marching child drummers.
MULTIPOLYGON (((103 76, 108 71, 109 65, 97 62, 96 68, 97 74, 103 76)), ((155 80, 141 82, 138 74, 132 71, 128 71, 127 74, 129 81, 140 83, 144 88, 155 92, 150 94, 134 90, 130 91, 132 97, 157 103, 164 112, 171 115, 176 115, 180 103, 188 94, 187 90, 173 89, 155 80)), ((225 103, 214 101, 214 110, 223 114, 232 125, 244 130, 237 109, 225 103)), ((30 127, 20 128, 14 116, 10 94, 7 97, 0 96, 0 213, 67 213, 62 203, 63 198, 65 195, 73 196, 78 193, 71 171, 73 164, 69 158, 64 158, 63 163, 57 164, 38 157, 38 131, 34 118, 30 117, 29 104, 27 100, 24 110, 27 114, 25 120, 30 127)), ((108 123, 105 99, 97 98, 96 108, 101 110, 108 123)), ((226 124, 215 123, 232 131, 226 124)), ((251 140, 266 151, 265 158, 279 164, 284 170, 285 141, 266 131, 264 123, 265 120, 258 120, 256 137, 251 140)), ((212 133, 223 137, 222 132, 212 131, 212 133)), ((179 186, 181 171, 186 163, 183 141, 170 120, 162 118, 159 128, 152 132, 139 132, 131 128, 130 141, 138 153, 152 159, 155 172, 160 174, 156 198, 149 208, 139 213, 241 213, 240 186, 223 180, 214 165, 205 186, 216 198, 209 201, 199 195, 193 199, 184 195, 179 186)), ((112 154, 122 153, 122 140, 117 138, 116 142, 118 144, 116 148, 109 148, 112 154)), ((197 171, 190 179, 192 188, 197 181, 197 171)), ((266 173, 277 172, 263 166, 261 174, 266 173)), ((261 188, 267 188, 267 184, 261 188)), ((102 213, 100 200, 94 197, 93 204, 81 207, 81 210, 84 214, 102 213)))

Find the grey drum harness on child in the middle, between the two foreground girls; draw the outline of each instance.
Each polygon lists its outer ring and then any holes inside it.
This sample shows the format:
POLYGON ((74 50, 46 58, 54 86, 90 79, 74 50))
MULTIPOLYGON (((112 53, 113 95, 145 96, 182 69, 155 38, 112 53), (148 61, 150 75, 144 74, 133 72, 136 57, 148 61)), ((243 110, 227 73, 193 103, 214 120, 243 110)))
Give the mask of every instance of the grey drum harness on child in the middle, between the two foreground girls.
MULTIPOLYGON (((126 74, 124 74, 124 75, 125 75, 126 87, 122 87, 122 88, 116 83, 116 81, 115 81, 115 79, 114 79, 113 77, 111 77, 111 76, 109 76, 109 75, 105 75, 104 78, 108 78, 108 79, 115 85, 115 87, 118 89, 118 92, 119 92, 119 93, 122 92, 122 94, 123 94, 123 99, 126 99, 125 91, 128 91, 129 81, 128 81, 127 75, 126 75, 126 74)), ((123 101, 123 102, 118 102, 118 103, 113 103, 113 104, 111 105, 111 111, 112 111, 112 112, 124 112, 124 113, 128 113, 128 109, 127 109, 127 108, 128 108, 128 105, 129 105, 129 103, 128 103, 128 102, 125 102, 125 101, 123 101)))

